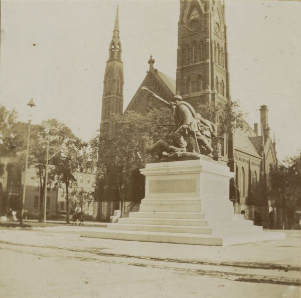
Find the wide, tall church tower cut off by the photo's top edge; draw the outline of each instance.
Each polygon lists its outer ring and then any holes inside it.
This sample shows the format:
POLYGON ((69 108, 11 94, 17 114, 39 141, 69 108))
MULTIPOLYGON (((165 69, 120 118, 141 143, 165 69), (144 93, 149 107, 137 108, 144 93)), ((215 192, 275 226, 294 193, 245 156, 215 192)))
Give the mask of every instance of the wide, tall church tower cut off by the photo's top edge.
POLYGON ((225 7, 221 0, 180 0, 176 90, 199 103, 230 99, 225 7))

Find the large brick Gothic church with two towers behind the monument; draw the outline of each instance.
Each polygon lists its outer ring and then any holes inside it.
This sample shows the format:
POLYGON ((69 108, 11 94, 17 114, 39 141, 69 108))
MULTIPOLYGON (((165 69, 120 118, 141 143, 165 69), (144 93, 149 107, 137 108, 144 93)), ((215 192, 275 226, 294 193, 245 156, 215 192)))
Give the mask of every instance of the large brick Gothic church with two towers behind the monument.
MULTIPOLYGON (((176 79, 154 67, 155 59, 151 55, 147 74, 140 86, 137 86, 125 112, 132 110, 143 114, 148 109, 163 107, 164 104, 141 90, 142 86, 166 101, 171 101, 175 94, 181 94, 183 100, 194 108, 201 103, 215 105, 231 101, 225 4, 221 0, 180 0, 178 48, 175 50, 176 79)), ((121 53, 117 8, 103 81, 101 126, 106 126, 110 114, 123 112, 121 53)), ((226 163, 235 173, 235 178, 230 181, 229 198, 233 202, 235 213, 243 212, 251 220, 256 213, 260 214, 260 224, 272 227, 272 217, 269 214, 272 213, 272 206, 267 197, 268 173, 270 169, 277 167, 277 158, 265 105, 260 107, 260 130, 257 123, 253 128, 246 123, 245 129, 225 136, 215 159, 226 163)), ((106 190, 109 185, 100 187, 106 190)), ((95 217, 99 220, 107 220, 117 206, 114 192, 105 190, 100 191, 99 197, 95 198, 95 217)), ((128 206, 131 205, 130 202, 135 202, 135 198, 127 200, 128 206)))

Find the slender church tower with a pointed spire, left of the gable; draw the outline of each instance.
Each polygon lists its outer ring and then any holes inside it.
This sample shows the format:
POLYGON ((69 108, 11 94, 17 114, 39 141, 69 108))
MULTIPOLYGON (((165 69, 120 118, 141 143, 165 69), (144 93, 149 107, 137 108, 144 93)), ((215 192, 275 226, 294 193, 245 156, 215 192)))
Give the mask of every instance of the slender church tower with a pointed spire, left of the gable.
POLYGON ((119 38, 118 7, 109 47, 109 59, 106 62, 103 80, 101 124, 110 114, 123 112, 123 62, 121 61, 121 42, 119 38))

